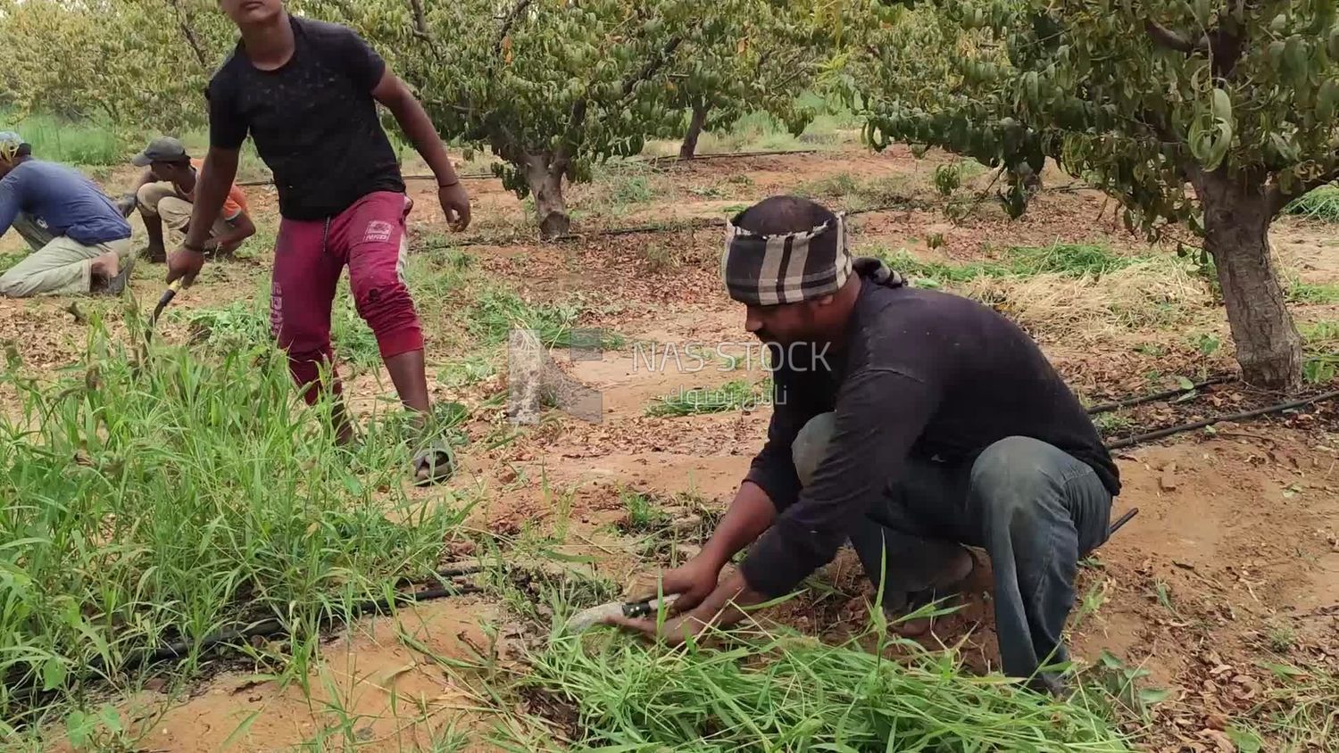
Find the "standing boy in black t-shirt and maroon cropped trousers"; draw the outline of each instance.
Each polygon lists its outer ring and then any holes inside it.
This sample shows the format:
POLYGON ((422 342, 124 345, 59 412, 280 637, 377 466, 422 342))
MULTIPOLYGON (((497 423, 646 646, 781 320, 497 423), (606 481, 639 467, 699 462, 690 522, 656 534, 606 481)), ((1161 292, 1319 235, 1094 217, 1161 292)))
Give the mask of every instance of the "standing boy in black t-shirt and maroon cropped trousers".
MULTIPOLYGON (((270 320, 289 370, 315 403, 331 362, 331 305, 347 265, 359 314, 380 345, 386 369, 420 427, 430 424, 423 333, 404 285, 404 194, 395 151, 376 114, 380 102, 431 167, 447 222, 463 230, 470 202, 422 104, 353 31, 289 16, 283 0, 221 0, 241 31, 233 55, 209 83, 210 147, 190 230, 167 259, 167 281, 189 285, 237 174, 248 134, 274 174, 283 222, 274 243, 270 320)), ((339 395, 335 380, 332 392, 339 395)), ((337 399, 339 400, 339 399, 337 399)), ((339 440, 353 436, 343 400, 339 440)), ((419 483, 451 472, 447 445, 414 460, 419 483)))

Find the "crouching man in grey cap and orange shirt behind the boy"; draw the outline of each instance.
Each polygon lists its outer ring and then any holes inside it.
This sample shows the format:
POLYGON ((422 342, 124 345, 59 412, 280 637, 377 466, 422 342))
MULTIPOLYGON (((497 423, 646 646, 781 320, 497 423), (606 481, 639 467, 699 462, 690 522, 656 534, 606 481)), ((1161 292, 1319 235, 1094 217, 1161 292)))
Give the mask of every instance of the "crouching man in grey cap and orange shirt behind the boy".
MULTIPOLYGON (((154 139, 130 160, 137 167, 147 167, 134 193, 123 197, 122 207, 139 207, 149 234, 145 255, 149 261, 167 261, 163 243, 163 225, 181 233, 190 229, 190 214, 195 205, 195 185, 205 167, 204 159, 193 159, 186 146, 171 136, 154 139)), ((246 238, 256 234, 256 225, 246 207, 246 194, 233 183, 224 199, 224 209, 209 229, 205 250, 230 255, 246 238)))

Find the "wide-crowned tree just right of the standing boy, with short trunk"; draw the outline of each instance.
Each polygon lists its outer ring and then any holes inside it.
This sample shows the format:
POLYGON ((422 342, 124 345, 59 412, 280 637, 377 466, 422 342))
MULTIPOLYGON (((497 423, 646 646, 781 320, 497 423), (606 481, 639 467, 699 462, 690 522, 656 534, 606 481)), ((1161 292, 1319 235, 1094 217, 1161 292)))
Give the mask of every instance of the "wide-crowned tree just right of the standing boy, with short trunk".
POLYGON ((443 136, 487 147, 544 237, 568 231, 562 181, 674 126, 690 49, 724 39, 742 0, 312 0, 387 52, 443 136))

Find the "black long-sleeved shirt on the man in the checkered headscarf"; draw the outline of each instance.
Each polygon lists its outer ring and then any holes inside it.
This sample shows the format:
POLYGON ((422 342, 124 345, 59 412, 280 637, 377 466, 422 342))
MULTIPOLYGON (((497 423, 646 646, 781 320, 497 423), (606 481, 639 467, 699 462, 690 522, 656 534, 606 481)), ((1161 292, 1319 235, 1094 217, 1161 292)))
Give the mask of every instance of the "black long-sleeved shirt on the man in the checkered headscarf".
POLYGON ((778 511, 743 563, 759 593, 786 594, 828 563, 909 456, 971 463, 1002 439, 1027 436, 1090 465, 1113 496, 1121 491, 1069 385, 1027 333, 976 301, 862 278, 846 345, 817 352, 774 361, 767 443, 747 476, 778 511), (801 490, 791 443, 829 411, 825 460, 801 490))

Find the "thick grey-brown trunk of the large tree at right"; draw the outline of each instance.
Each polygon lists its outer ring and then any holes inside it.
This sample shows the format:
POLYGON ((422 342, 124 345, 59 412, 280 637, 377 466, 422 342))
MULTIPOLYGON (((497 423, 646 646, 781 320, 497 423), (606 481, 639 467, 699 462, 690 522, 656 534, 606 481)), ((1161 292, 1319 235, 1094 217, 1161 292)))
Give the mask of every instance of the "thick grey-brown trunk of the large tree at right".
POLYGON ((1196 191, 1204 206, 1204 247, 1218 270, 1241 377, 1267 389, 1296 392, 1302 337, 1273 272, 1273 209, 1263 181, 1210 173, 1196 181, 1196 191))

